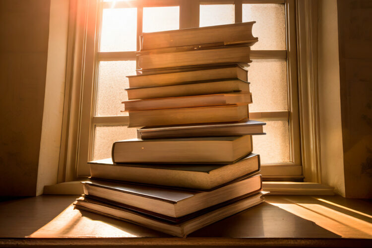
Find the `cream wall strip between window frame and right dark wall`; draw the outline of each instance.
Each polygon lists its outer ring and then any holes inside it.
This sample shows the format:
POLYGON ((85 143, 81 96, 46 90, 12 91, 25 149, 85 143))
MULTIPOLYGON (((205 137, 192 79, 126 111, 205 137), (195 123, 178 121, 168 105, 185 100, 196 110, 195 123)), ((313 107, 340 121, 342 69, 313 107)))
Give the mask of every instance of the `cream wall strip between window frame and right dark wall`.
POLYGON ((322 183, 345 196, 341 126, 337 0, 320 0, 318 11, 318 94, 322 183))

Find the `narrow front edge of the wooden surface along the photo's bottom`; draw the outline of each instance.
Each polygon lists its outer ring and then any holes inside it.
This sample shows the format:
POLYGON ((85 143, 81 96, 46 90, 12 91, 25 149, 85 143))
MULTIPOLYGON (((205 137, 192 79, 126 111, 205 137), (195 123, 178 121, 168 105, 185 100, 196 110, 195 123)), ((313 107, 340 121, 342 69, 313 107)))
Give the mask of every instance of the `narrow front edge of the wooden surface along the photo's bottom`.
POLYGON ((0 247, 71 248, 159 248, 159 247, 254 247, 254 248, 371 248, 368 239, 290 239, 290 238, 84 238, 84 239, 1 239, 0 247))

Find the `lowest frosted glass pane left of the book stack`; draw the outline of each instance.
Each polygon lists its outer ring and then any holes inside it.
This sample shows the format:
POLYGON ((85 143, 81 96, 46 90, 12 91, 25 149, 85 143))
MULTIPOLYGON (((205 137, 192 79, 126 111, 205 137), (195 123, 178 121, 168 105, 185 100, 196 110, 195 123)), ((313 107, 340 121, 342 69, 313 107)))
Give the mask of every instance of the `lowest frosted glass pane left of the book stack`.
POLYGON ((97 125, 94 129, 93 160, 111 158, 111 148, 115 141, 136 137, 136 128, 134 127, 97 125))

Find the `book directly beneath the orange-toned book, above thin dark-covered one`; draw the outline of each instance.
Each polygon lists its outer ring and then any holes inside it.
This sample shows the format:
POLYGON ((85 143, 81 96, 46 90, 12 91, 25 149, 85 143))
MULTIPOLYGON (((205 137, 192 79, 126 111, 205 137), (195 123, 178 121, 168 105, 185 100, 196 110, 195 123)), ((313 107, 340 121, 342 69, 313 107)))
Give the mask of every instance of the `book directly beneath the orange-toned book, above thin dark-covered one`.
POLYGON ((129 127, 237 122, 248 118, 247 104, 128 111, 129 127))

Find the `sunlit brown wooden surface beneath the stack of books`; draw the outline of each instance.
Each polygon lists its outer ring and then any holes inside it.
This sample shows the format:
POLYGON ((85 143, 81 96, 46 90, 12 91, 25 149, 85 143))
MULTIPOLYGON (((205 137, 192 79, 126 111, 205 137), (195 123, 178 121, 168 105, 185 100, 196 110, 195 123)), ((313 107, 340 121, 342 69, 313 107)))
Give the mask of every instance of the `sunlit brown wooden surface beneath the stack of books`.
POLYGON ((258 206, 179 239, 74 209, 70 204, 76 197, 42 195, 0 202, 0 247, 63 246, 67 237, 74 238, 68 243, 75 246, 372 246, 372 202, 366 200, 268 195, 258 206), (92 243, 89 238, 101 239, 92 243))

